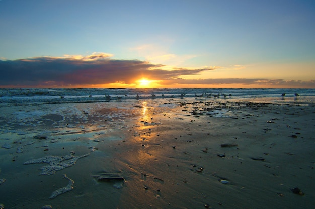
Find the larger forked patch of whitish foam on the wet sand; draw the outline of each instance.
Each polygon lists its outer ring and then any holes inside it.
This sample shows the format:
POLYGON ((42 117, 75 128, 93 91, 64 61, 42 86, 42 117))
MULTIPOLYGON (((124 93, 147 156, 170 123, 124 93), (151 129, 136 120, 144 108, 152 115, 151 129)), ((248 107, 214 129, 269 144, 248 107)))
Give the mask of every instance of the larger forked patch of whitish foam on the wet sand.
POLYGON ((89 156, 90 154, 85 154, 82 156, 73 156, 71 154, 64 156, 45 156, 42 158, 29 160, 24 163, 24 165, 34 164, 34 163, 48 163, 49 165, 41 168, 41 173, 39 175, 52 175, 57 171, 62 170, 64 168, 70 167, 76 163, 76 161, 80 158, 89 156))

